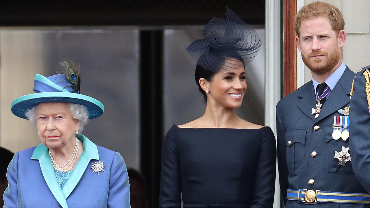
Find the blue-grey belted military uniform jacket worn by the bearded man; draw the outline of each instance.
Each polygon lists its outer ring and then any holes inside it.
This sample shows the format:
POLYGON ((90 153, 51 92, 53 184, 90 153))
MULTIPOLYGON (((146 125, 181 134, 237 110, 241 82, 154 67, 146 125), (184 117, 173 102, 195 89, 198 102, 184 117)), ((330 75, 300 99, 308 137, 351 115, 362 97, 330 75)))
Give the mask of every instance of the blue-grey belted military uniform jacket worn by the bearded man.
MULTIPOLYGON (((357 193, 356 196, 361 197, 358 193, 367 194, 367 191, 357 180, 351 161, 343 166, 334 158, 334 152, 349 147, 348 141, 351 140, 351 136, 346 141, 334 140, 332 137, 334 116, 343 116, 344 107, 349 106, 351 83, 355 76, 353 71, 342 65, 345 70, 326 98, 317 118, 312 114, 312 108, 316 105, 313 81, 287 95, 276 106, 279 178, 286 208, 370 207, 366 202, 347 203, 356 200, 354 195, 348 196, 346 193, 357 193), (345 203, 339 203, 338 200, 344 200, 341 202, 345 203)), ((349 153, 353 154, 351 148, 349 153)), ((367 172, 370 174, 370 157, 368 162, 367 172)))

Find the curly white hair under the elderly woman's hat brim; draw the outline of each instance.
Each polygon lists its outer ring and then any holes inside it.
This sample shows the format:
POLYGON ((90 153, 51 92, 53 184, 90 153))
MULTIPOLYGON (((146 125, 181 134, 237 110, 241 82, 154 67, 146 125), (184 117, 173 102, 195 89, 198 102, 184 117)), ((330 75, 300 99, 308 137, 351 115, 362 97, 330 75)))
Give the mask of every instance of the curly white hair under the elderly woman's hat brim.
MULTIPOLYGON (((80 121, 80 127, 78 128, 78 132, 81 133, 84 130, 85 124, 89 121, 89 112, 84 105, 75 104, 75 103, 68 103, 70 107, 70 111, 72 113, 72 117, 78 119, 80 121)), ((28 109, 26 113, 24 113, 28 120, 31 123, 36 124, 36 111, 37 111, 38 104, 33 107, 32 109, 28 109)))

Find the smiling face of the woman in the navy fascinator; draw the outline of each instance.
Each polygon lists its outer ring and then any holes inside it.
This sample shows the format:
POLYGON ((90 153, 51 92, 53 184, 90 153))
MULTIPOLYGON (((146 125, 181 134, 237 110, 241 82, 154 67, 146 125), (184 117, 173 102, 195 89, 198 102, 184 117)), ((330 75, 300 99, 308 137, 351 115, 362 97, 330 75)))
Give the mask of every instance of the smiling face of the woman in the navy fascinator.
POLYGON ((221 71, 209 82, 208 102, 216 102, 227 108, 239 108, 247 90, 243 63, 238 59, 228 60, 221 71))

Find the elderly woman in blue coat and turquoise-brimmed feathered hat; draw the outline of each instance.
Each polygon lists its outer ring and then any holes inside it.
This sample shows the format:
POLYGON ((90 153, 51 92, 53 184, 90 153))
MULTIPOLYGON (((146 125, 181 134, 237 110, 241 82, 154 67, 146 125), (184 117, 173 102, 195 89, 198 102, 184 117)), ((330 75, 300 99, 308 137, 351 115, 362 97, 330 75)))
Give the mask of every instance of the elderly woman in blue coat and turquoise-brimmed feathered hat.
POLYGON ((129 208, 128 175, 118 152, 81 134, 104 105, 80 94, 76 65, 61 62, 65 74, 36 74, 34 94, 11 104, 14 115, 36 124, 41 144, 17 152, 7 171, 4 207, 129 208))

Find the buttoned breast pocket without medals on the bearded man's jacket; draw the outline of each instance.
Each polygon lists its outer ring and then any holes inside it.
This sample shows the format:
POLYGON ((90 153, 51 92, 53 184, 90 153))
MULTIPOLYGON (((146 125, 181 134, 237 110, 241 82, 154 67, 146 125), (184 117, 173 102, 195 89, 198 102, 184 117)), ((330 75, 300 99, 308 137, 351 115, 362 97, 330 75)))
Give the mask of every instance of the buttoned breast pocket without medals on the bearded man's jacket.
POLYGON ((298 175, 302 170, 305 158, 306 132, 307 129, 293 129, 285 132, 288 176, 298 175))

